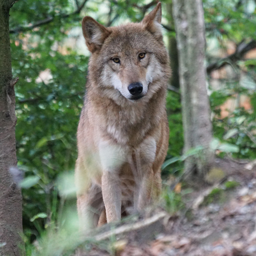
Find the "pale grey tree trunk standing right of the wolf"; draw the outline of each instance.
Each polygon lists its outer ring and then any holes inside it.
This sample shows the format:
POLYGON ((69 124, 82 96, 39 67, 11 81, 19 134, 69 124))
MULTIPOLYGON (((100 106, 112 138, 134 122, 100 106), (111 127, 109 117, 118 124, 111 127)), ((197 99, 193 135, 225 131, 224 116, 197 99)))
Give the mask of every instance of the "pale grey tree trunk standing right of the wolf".
POLYGON ((203 146, 202 153, 185 160, 187 178, 204 178, 214 160, 209 148, 212 140, 209 99, 206 90, 205 31, 201 0, 173 0, 176 38, 179 53, 179 76, 182 96, 184 152, 203 146), (193 172, 196 171, 196 172, 193 172))

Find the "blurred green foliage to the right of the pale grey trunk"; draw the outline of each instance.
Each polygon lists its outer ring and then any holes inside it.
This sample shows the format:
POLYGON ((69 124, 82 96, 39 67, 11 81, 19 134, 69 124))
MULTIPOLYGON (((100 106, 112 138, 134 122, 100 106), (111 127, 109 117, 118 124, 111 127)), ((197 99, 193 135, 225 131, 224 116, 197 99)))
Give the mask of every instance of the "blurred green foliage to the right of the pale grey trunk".
MULTIPOLYGON (((256 19, 255 1, 204 1, 206 39, 208 51, 206 52, 209 62, 216 61, 216 51, 225 53, 228 42, 243 47, 251 39, 256 39, 254 24, 256 19), (214 46, 214 47, 213 47, 214 46), (220 51, 221 50, 221 51, 220 51)), ((228 53, 225 54, 227 56, 228 53)), ((236 145, 239 150, 232 153, 235 158, 255 159, 256 158, 256 137, 255 137, 255 59, 241 58, 234 61, 232 58, 222 58, 219 65, 227 62, 231 67, 230 75, 219 79, 220 89, 213 91, 210 95, 210 104, 215 117, 214 135, 222 142, 226 141, 236 145), (244 109, 239 104, 241 97, 247 97, 252 109, 244 109), (223 118, 223 103, 233 100, 228 116, 223 118), (222 108, 221 108, 222 105, 222 108)), ((209 77, 211 78, 211 77, 209 77)), ((224 154, 220 153, 220 156, 224 154)))

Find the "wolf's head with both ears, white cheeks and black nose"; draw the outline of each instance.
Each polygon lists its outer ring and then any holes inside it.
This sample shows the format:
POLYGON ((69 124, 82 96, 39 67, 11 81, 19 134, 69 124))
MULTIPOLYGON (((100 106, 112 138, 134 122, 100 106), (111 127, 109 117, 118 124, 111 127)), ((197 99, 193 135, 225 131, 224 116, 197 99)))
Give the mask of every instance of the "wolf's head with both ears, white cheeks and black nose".
POLYGON ((93 18, 82 20, 92 56, 92 86, 116 102, 150 99, 169 78, 168 55, 161 33, 161 3, 140 23, 105 28, 93 18))

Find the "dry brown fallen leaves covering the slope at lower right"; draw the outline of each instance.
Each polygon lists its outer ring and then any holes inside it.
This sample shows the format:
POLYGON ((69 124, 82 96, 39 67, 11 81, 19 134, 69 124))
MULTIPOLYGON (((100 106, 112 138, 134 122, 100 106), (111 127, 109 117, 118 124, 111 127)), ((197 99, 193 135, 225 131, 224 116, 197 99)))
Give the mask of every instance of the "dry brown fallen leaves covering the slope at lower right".
MULTIPOLYGON (((187 210, 178 217, 163 218, 160 222, 116 237, 112 255, 256 255, 256 168, 248 169, 245 164, 233 161, 219 161, 221 168, 225 169, 226 181, 239 184, 232 189, 224 189, 224 200, 205 204, 205 198, 211 195, 212 189, 223 189, 223 182, 194 191, 186 198, 187 210), (154 235, 153 240, 141 239, 143 234, 148 237, 148 233, 154 235)), ((181 187, 177 189, 182 190, 181 187)), ((97 248, 94 249, 94 254, 89 251, 84 255, 111 255, 102 250, 97 254, 97 248)))

